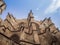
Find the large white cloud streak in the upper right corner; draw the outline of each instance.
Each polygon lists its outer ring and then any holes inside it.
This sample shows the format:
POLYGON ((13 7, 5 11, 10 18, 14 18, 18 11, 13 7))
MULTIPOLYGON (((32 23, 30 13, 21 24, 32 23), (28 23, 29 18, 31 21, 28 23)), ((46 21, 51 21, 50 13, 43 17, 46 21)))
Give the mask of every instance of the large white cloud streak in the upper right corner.
POLYGON ((58 8, 60 8, 60 0, 53 0, 52 3, 48 6, 48 8, 45 10, 45 14, 53 13, 58 8))

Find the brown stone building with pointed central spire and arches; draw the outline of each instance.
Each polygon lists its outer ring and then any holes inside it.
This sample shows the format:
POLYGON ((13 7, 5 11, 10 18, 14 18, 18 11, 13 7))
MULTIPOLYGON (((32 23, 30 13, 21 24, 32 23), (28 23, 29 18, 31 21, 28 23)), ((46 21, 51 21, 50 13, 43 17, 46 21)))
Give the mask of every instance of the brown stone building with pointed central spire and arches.
POLYGON ((26 19, 8 13, 0 18, 0 45, 60 45, 60 31, 50 18, 34 20, 32 11, 26 19))

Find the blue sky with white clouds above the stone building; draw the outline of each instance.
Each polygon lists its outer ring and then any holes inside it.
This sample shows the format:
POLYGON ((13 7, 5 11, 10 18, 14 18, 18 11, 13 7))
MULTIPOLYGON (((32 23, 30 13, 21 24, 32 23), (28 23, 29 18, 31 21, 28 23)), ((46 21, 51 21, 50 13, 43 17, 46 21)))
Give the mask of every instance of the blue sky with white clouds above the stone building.
POLYGON ((5 19, 8 12, 17 19, 27 18, 32 10, 36 20, 51 17, 55 26, 60 29, 60 0, 4 0, 7 7, 0 15, 5 19))

